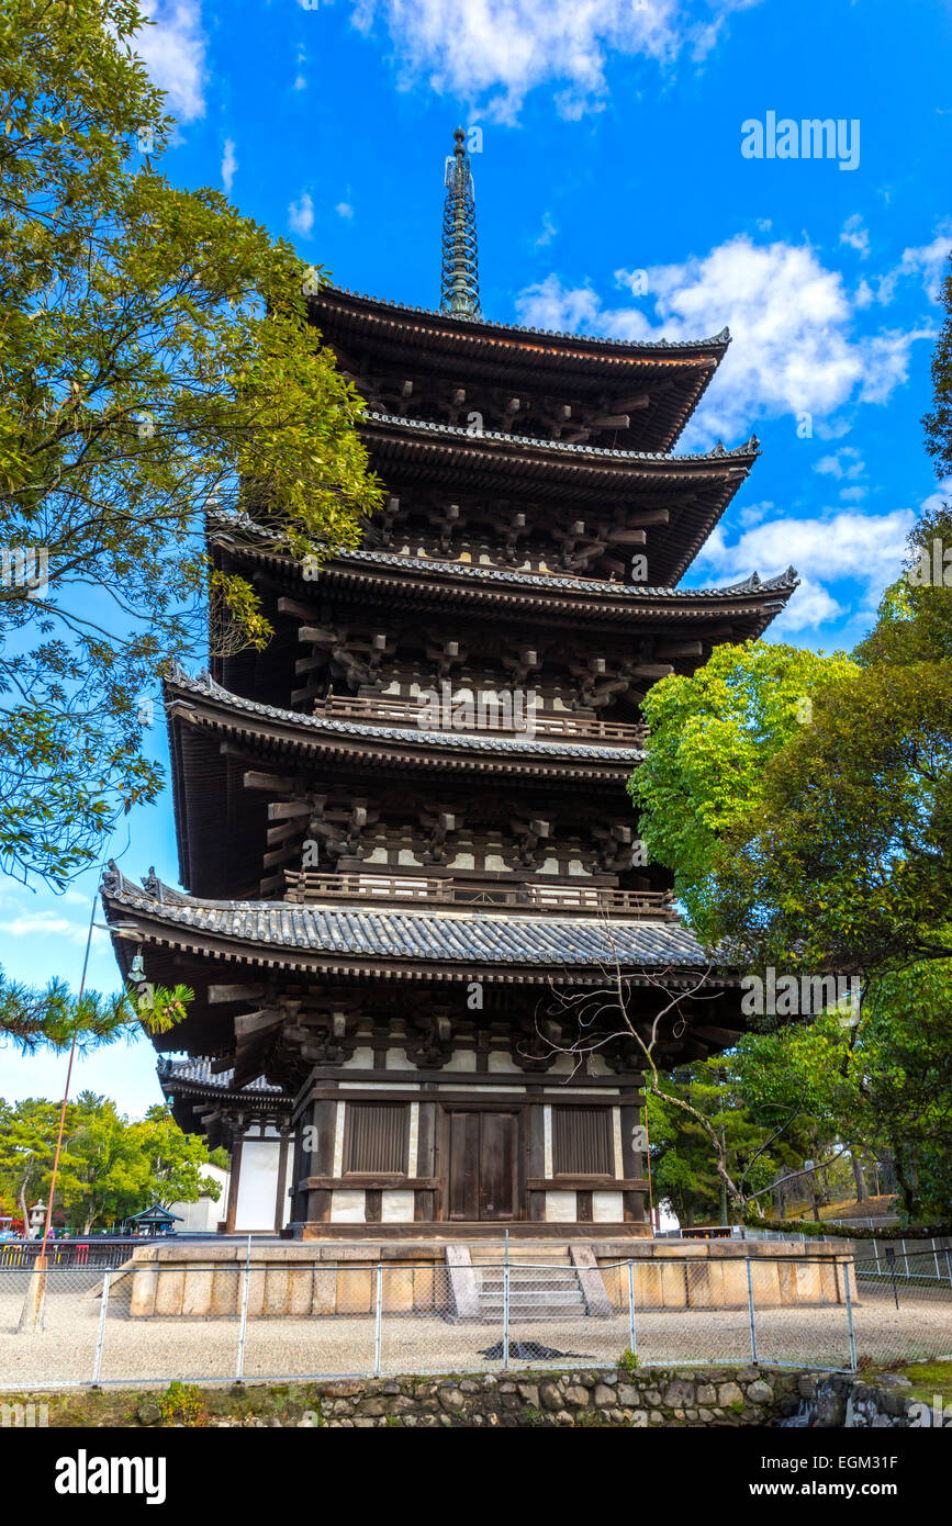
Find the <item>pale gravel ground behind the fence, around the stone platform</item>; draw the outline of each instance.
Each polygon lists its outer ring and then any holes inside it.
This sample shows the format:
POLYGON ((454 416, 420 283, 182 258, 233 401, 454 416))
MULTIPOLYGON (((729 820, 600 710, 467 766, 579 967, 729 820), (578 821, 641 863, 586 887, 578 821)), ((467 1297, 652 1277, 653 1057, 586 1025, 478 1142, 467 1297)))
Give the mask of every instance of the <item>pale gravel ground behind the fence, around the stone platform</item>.
MULTIPOLYGON (((18 1334, 26 1277, 0 1279, 0 1387, 55 1387, 88 1383, 99 1332, 95 1273, 70 1273, 69 1286, 47 1293, 43 1334, 18 1334)), ((888 1286, 864 1288, 854 1308, 856 1351, 877 1363, 952 1352, 952 1297, 900 1288, 899 1311, 888 1286)), ((105 1320, 102 1383, 201 1381, 235 1376, 238 1320, 131 1320, 128 1294, 116 1289, 105 1320)), ((847 1311, 783 1308, 757 1311, 758 1357, 764 1363, 848 1366, 847 1311)), ((613 1364, 630 1344, 627 1315, 514 1322, 510 1340, 537 1343, 513 1351, 514 1364, 613 1364), (542 1347, 542 1349, 539 1349, 542 1347)), ((636 1347, 644 1366, 743 1363, 751 1358, 748 1314, 738 1309, 667 1309, 636 1314, 636 1347)), ((249 1320, 246 1378, 304 1378, 374 1370, 375 1326, 366 1317, 249 1320)), ((384 1315, 381 1372, 499 1369, 499 1325, 450 1323, 433 1315, 384 1315), (496 1349, 493 1349, 496 1347, 496 1349), (488 1354, 488 1355, 487 1355, 488 1354)))

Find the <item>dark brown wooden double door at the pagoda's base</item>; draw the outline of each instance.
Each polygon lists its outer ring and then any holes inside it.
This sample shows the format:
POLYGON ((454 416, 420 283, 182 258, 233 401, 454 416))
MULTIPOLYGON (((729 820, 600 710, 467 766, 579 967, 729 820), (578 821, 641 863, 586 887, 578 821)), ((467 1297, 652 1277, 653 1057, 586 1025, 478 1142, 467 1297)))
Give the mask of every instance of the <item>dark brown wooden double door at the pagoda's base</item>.
POLYGON ((519 1218, 519 1114, 449 1114, 447 1218, 519 1218))

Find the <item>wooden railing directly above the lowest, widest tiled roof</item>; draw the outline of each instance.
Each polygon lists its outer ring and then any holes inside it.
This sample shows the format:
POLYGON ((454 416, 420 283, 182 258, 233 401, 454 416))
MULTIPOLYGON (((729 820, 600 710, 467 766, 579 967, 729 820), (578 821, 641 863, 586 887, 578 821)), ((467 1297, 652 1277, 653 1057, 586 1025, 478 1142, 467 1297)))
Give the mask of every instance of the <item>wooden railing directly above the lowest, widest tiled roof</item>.
POLYGON ((426 902, 455 906, 505 906, 516 911, 584 911, 673 922, 667 890, 613 890, 606 885, 478 885, 415 874, 314 874, 287 871, 285 900, 426 902))

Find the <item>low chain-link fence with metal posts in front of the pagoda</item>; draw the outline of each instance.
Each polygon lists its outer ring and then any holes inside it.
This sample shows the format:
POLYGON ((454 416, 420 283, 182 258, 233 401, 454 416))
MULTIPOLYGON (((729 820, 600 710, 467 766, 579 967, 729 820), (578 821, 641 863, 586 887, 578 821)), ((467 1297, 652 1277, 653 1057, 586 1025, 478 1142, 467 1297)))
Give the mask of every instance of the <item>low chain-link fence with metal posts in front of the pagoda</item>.
MULTIPOLYGON (((485 1256, 485 1251, 482 1253, 485 1256)), ((143 1262, 0 1273, 0 1389, 952 1352, 941 1248, 830 1256, 143 1262), (859 1276, 857 1276, 859 1273, 859 1276)))

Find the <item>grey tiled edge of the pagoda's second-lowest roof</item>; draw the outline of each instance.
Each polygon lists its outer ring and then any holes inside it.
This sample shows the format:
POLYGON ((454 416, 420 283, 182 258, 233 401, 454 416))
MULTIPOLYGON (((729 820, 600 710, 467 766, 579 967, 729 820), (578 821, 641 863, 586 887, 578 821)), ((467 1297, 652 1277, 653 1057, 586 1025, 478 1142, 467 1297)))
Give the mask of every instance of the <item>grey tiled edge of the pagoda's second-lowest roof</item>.
POLYGON ((183 668, 175 667, 171 682, 177 688, 189 690, 192 694, 207 694, 220 699, 229 710, 261 716, 265 720, 281 720, 285 725, 304 726, 320 736, 354 737, 357 740, 386 740, 401 746, 424 745, 439 746, 458 752, 502 752, 517 757, 558 757, 578 758, 590 763, 641 763, 644 752, 639 748, 615 748, 593 745, 589 742, 542 740, 539 737, 487 737, 462 731, 426 731, 421 726, 388 726, 363 725, 359 720, 326 720, 323 716, 304 716, 296 710, 281 710, 278 705, 262 705, 217 684, 209 673, 189 678, 183 668))

